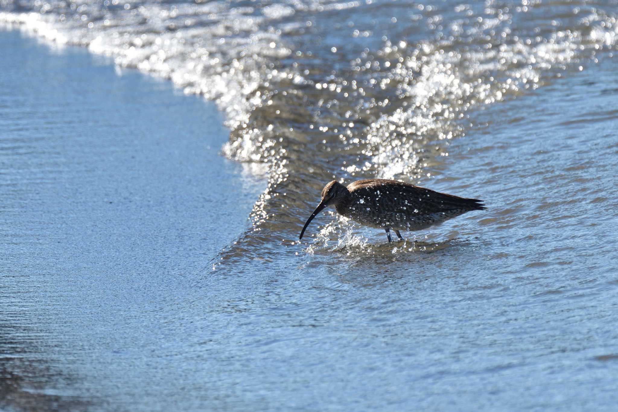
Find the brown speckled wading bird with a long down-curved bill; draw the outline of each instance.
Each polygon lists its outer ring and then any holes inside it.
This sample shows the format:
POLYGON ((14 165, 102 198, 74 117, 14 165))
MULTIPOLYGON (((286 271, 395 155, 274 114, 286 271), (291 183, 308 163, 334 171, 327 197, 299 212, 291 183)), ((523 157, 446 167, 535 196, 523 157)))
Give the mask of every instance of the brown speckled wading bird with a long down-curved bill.
POLYGON ((324 186, 322 201, 307 219, 300 239, 316 214, 331 204, 337 213, 353 221, 386 230, 391 242, 391 229, 403 240, 399 230, 426 229, 465 212, 487 209, 481 202, 397 180, 357 180, 347 187, 333 180, 324 186))

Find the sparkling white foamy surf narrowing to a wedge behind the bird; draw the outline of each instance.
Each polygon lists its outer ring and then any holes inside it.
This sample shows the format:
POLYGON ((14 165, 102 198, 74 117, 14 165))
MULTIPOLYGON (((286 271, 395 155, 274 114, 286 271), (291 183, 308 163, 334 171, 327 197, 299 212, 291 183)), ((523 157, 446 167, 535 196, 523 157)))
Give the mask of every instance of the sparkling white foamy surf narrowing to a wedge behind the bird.
POLYGON ((465 133, 470 109, 543 86, 617 41, 615 15, 589 7, 552 17, 536 3, 509 11, 410 5, 408 20, 355 1, 3 4, 0 22, 216 101, 232 129, 222 153, 271 165, 256 224, 271 207, 282 213, 279 190, 302 190, 287 179, 289 167, 317 170, 320 180, 334 172, 416 179, 446 152, 444 142, 465 133), (376 15, 388 15, 392 30, 376 15))

